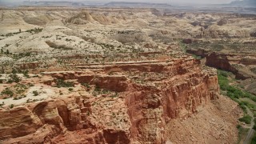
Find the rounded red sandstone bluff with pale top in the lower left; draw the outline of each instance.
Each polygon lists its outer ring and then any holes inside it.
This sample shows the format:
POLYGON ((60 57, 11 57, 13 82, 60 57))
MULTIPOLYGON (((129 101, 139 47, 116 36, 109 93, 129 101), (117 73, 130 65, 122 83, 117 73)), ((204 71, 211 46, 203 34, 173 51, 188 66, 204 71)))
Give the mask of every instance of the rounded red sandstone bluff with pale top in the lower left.
MULTIPOLYGON (((82 128, 81 111, 74 98, 54 100, 1 110, 0 138, 18 138, 34 134, 41 127, 48 129, 48 134, 38 135, 44 142, 46 136, 56 136, 68 130, 82 128), (66 101, 66 102, 65 102, 66 101), (49 127, 50 126, 50 127, 49 127)), ((22 142, 22 141, 21 141, 22 142)))

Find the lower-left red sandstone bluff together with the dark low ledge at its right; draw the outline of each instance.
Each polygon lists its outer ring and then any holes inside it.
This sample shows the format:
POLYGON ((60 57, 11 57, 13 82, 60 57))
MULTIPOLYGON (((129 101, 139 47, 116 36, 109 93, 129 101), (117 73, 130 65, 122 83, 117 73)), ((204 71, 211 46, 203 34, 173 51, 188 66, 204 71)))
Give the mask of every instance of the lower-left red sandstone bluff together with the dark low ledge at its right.
POLYGON ((0 110, 0 142, 58 143, 51 138, 65 134, 66 130, 86 130, 86 134, 95 135, 86 138, 86 142, 129 143, 126 131, 94 126, 88 116, 90 104, 87 107, 86 103, 81 97, 73 96, 0 110))

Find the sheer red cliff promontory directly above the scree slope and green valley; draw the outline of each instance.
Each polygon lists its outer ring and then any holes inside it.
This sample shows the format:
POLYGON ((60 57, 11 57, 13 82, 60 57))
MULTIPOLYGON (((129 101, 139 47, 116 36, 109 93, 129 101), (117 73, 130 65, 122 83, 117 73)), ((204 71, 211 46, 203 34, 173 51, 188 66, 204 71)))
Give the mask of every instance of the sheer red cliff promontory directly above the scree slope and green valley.
POLYGON ((166 123, 194 114, 198 106, 218 98, 218 78, 200 70, 194 59, 176 61, 163 71, 174 75, 161 86, 131 87, 126 97, 133 143, 164 143, 166 123))

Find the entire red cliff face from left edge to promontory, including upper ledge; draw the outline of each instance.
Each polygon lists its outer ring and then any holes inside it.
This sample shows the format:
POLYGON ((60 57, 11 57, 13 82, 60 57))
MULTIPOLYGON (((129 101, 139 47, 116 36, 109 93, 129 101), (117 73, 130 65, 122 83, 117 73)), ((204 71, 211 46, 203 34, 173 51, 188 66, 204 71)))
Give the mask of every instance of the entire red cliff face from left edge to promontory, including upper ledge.
POLYGON ((86 82, 118 92, 118 98, 107 98, 106 94, 95 97, 83 90, 0 110, 1 140, 6 143, 26 143, 27 138, 32 138, 31 141, 53 143, 160 144, 166 142, 166 123, 171 119, 189 117, 197 112, 198 106, 218 98, 216 71, 202 70, 194 58, 122 63, 100 69, 119 75, 51 72, 44 73, 47 82, 44 78, 42 82, 53 85, 54 80, 48 82, 50 77, 76 81, 78 85, 86 82), (144 84, 140 84, 134 78, 143 72, 152 75, 144 77, 144 84), (35 134, 37 137, 33 137, 35 134))

